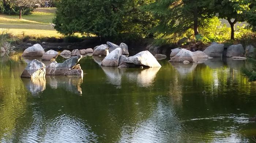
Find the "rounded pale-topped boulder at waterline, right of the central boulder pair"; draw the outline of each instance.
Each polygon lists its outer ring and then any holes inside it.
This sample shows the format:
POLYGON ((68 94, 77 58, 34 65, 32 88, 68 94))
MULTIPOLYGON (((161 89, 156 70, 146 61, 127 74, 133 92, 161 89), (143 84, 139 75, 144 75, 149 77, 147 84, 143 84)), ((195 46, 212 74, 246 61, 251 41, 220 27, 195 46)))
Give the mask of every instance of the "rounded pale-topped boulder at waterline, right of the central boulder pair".
POLYGON ((181 49, 177 55, 171 58, 170 62, 183 62, 185 60, 189 62, 196 62, 197 57, 193 54, 193 52, 187 49, 181 49))

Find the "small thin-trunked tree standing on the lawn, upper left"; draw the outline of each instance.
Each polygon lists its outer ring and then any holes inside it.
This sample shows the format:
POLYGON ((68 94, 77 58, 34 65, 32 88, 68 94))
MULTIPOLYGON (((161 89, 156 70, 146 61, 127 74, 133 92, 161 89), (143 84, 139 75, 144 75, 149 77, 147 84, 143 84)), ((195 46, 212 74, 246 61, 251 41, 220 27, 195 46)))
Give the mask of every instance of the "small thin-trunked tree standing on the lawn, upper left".
POLYGON ((34 8, 35 4, 43 4, 45 0, 10 0, 9 4, 19 8, 19 19, 22 18, 22 11, 25 8, 34 8))

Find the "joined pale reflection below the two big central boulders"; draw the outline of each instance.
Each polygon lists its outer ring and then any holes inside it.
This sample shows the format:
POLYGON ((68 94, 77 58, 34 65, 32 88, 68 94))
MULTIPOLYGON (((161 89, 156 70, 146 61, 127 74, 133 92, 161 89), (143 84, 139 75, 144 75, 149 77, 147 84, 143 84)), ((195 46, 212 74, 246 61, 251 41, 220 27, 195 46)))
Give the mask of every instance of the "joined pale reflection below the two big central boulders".
POLYGON ((137 83, 139 87, 149 87, 154 83, 154 79, 161 67, 156 68, 116 68, 116 67, 102 67, 110 84, 121 88, 122 78, 126 78, 128 82, 137 83))

